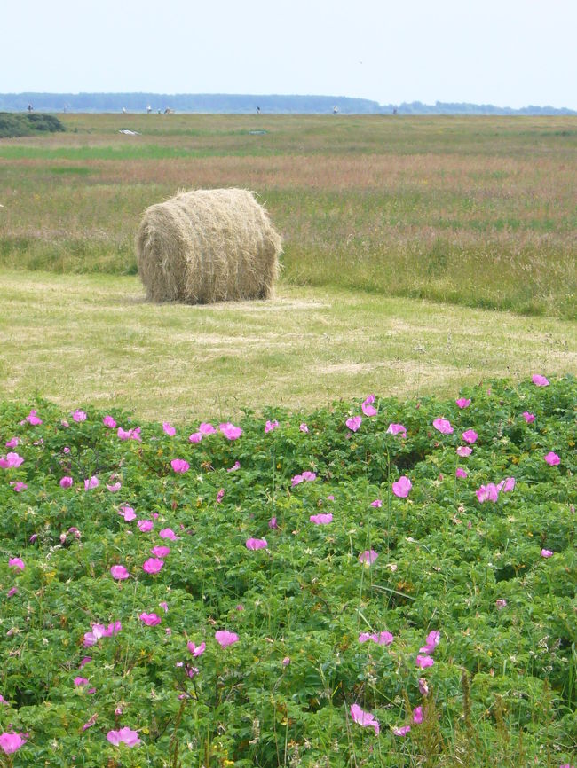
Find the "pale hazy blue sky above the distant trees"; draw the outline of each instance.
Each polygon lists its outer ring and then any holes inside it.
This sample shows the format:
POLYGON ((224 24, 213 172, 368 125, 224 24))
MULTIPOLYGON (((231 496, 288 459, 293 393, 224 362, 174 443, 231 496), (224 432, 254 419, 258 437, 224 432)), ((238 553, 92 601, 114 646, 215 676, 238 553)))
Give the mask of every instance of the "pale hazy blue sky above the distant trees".
POLYGON ((577 109, 577 0, 0 0, 0 92, 577 109))

